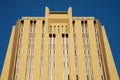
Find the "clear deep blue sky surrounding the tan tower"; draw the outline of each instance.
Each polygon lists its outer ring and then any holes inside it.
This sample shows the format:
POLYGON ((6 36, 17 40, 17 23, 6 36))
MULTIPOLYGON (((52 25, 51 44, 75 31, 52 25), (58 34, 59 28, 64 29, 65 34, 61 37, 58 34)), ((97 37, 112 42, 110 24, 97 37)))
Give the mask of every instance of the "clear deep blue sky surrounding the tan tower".
POLYGON ((0 0, 0 72, 8 42, 17 19, 22 16, 44 16, 50 10, 67 10, 73 16, 94 16, 105 25, 115 64, 120 76, 120 0, 0 0))

